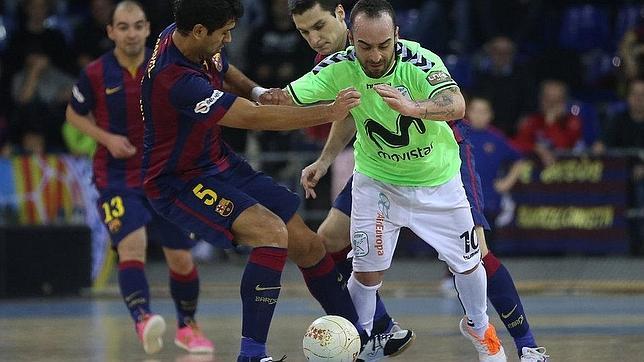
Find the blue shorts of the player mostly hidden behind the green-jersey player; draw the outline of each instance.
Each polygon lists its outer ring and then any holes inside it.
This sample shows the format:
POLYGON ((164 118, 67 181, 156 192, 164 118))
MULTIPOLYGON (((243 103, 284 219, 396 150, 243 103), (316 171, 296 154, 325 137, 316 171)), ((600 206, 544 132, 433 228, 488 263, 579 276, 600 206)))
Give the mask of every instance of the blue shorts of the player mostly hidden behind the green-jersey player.
MULTIPOLYGON (((474 155, 472 154, 472 145, 466 140, 458 144, 461 156, 461 180, 465 187, 467 200, 470 202, 472 218, 474 225, 482 226, 490 230, 490 224, 483 215, 483 190, 481 189, 481 178, 476 172, 474 165, 474 155)), ((344 188, 333 201, 333 207, 340 210, 343 214, 351 217, 351 185, 353 176, 349 178, 344 188)))

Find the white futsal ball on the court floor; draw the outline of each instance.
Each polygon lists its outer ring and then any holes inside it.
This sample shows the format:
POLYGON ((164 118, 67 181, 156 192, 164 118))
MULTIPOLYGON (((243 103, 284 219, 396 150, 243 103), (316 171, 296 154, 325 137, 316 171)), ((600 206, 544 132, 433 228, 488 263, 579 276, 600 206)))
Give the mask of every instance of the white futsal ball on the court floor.
POLYGON ((302 349, 310 362, 354 362, 360 353, 360 335, 348 320, 327 315, 311 323, 302 349))

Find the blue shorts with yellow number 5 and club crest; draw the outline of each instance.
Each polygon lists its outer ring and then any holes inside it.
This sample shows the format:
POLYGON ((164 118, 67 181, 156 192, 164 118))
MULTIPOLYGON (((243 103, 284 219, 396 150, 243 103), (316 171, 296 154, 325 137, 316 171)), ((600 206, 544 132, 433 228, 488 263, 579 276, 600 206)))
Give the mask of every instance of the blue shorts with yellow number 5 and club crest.
POLYGON ((151 202, 168 220, 222 248, 233 246, 233 222, 247 208, 259 203, 287 223, 300 206, 297 194, 242 159, 219 174, 192 179, 176 194, 151 202))

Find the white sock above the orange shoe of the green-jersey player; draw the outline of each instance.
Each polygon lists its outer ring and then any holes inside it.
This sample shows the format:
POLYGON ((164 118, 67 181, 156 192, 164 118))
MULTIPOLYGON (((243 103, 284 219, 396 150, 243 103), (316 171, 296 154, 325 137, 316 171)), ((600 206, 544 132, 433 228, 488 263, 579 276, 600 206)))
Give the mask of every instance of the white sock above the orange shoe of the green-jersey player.
POLYGON ((489 318, 487 316, 487 276, 479 263, 470 274, 454 274, 458 298, 465 309, 465 315, 474 323, 470 325, 479 337, 485 335, 489 318))

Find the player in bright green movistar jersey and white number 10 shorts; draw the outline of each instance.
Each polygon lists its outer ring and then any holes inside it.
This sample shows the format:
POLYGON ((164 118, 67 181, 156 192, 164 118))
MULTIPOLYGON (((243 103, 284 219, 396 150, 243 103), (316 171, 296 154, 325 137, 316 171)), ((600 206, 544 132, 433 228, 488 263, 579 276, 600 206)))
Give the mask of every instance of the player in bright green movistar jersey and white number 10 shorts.
POLYGON ((409 227, 454 273, 466 314, 460 329, 479 359, 504 361, 486 314, 486 276, 460 179, 458 145, 445 122, 462 118, 465 102, 438 56, 398 39, 394 19, 388 2, 359 1, 351 12, 354 46, 287 87, 298 104, 332 100, 348 86, 362 94, 361 105, 351 111, 357 138, 349 290, 360 323, 370 330, 376 291, 400 228, 409 227))

